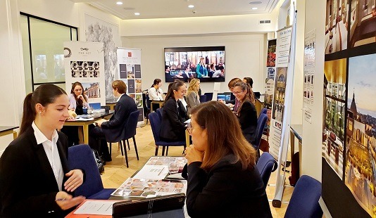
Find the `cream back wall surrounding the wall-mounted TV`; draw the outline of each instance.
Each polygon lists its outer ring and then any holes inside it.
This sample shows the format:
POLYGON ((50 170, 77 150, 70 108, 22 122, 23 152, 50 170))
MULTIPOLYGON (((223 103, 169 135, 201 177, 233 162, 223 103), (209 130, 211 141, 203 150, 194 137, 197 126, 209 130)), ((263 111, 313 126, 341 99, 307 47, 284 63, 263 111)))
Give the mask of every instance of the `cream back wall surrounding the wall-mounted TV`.
MULTIPOLYGON (((228 91, 234 77, 252 77, 253 91, 264 91, 266 34, 208 34, 165 37, 122 37, 123 47, 142 49, 142 89, 149 89, 153 79, 165 79, 163 49, 188 46, 225 46, 225 82, 220 91, 228 91)), ((201 91, 213 92, 213 82, 202 82, 201 91)), ((167 91, 167 84, 162 89, 167 91)))

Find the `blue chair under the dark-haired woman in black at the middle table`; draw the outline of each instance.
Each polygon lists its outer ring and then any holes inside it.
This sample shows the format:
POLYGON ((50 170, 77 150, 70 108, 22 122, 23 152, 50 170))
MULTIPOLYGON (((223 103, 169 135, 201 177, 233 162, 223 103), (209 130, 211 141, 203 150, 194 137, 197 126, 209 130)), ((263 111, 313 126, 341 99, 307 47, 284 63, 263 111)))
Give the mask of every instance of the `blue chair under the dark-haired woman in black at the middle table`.
MULTIPOLYGON (((151 131, 153 132, 153 136, 154 136, 154 142, 156 143, 155 155, 158 155, 159 146, 163 146, 162 156, 165 155, 165 147, 168 148, 168 146, 186 146, 185 141, 174 141, 174 142, 161 141, 161 138, 159 137, 159 133, 161 130, 161 119, 159 119, 157 113, 155 112, 149 114, 149 119, 150 119, 151 131)), ((166 156, 167 155, 168 153, 166 152, 166 156)))

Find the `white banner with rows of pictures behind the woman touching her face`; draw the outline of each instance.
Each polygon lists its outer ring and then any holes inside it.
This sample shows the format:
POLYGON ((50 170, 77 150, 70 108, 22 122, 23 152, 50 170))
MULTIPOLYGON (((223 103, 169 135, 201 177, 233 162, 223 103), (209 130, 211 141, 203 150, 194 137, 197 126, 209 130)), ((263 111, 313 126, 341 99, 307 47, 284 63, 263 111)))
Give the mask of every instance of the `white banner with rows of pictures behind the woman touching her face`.
POLYGON ((89 103, 106 105, 104 79, 104 44, 101 42, 65 41, 65 91, 80 82, 89 103))

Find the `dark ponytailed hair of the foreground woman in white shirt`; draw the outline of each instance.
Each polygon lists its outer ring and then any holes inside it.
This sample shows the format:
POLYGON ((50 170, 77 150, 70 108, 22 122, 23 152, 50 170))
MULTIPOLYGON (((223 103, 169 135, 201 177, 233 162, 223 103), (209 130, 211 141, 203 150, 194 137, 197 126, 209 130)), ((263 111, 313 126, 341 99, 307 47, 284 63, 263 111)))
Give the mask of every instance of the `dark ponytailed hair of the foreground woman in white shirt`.
POLYGON ((56 98, 63 94, 66 95, 64 89, 54 84, 42 84, 34 92, 27 94, 23 101, 23 120, 21 121, 20 134, 31 127, 35 120, 35 115, 37 115, 35 105, 37 103, 46 107, 46 105, 54 103, 56 98))

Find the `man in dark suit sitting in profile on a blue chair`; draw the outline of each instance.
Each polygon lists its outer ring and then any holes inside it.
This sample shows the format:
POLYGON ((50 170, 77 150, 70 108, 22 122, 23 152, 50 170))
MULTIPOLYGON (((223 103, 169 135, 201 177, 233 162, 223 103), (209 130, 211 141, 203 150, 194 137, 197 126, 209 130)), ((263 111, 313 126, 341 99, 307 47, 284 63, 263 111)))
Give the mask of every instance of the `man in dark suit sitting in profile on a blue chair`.
POLYGON ((108 142, 120 141, 121 136, 125 130, 124 125, 127 123, 130 113, 137 110, 137 105, 134 99, 127 96, 127 85, 121 80, 115 80, 112 83, 113 95, 118 98, 115 106, 115 112, 110 120, 98 120, 96 126, 90 130, 89 145, 101 153, 105 161, 111 161, 111 155, 108 152, 108 142), (106 137, 106 140, 103 137, 106 137), (99 148, 98 139, 101 139, 101 148, 99 148))

